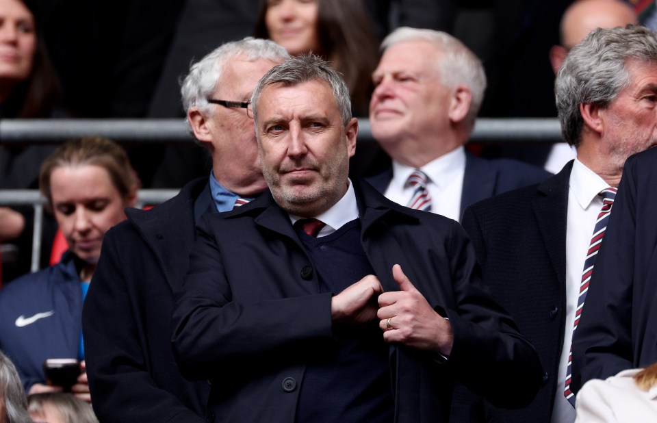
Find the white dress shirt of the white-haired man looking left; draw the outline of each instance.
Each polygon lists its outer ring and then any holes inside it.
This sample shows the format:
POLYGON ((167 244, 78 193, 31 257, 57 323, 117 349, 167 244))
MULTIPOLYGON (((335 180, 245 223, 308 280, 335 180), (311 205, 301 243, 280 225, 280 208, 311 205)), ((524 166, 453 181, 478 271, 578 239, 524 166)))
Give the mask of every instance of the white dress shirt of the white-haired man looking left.
MULTIPOLYGON (((405 185, 414 170, 411 166, 393 161, 393 176, 385 190, 386 198, 401 205, 408 205, 415 188, 405 185)), ((461 192, 465 175, 464 147, 438 157, 420 170, 428 177, 426 189, 431 196, 431 212, 457 222, 461 220, 461 192)))

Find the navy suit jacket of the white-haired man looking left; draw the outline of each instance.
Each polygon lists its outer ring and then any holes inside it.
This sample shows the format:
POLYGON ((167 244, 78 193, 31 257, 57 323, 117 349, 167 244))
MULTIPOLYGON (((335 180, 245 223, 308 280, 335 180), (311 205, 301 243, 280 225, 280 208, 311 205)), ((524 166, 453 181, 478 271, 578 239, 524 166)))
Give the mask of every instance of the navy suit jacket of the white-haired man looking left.
MULTIPOLYGON (((511 159, 487 160, 465 153, 465 175, 461 193, 461 216, 465 207, 502 192, 539 183, 550 172, 511 159)), ((365 179, 378 192, 385 192, 392 180, 392 168, 365 179)))

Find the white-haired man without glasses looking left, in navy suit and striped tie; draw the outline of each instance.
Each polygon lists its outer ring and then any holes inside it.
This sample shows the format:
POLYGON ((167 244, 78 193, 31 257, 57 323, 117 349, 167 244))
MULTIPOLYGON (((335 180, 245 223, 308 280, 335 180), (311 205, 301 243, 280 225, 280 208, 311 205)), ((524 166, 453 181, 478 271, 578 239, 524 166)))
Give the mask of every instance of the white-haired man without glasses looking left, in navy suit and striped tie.
POLYGON ((466 153, 486 77, 463 43, 440 31, 399 28, 381 48, 370 125, 392 165, 368 182, 387 198, 460 220, 467 205, 550 176, 466 153))

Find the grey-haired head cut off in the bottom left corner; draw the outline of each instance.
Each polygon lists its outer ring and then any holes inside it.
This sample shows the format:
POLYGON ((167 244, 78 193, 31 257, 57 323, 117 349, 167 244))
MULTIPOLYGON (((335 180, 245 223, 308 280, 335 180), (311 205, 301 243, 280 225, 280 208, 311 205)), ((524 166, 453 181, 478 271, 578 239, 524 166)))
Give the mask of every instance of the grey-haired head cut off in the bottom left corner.
POLYGON ((0 423, 30 423, 21 379, 14 363, 0 350, 0 423))

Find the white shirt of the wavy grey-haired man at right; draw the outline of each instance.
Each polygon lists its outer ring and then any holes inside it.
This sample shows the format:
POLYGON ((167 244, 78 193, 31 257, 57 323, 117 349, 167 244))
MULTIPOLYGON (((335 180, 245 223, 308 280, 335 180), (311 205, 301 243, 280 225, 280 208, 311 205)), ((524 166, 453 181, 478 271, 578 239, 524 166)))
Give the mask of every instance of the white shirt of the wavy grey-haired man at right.
POLYGON ((556 398, 552 409, 553 423, 575 421, 575 409, 563 395, 563 390, 573 337, 575 310, 580 296, 584 260, 589 251, 597 215, 602 209, 602 198, 597 194, 608 187, 609 185, 604 179, 575 159, 573 170, 570 173, 566 220, 566 327, 561 361, 559 362, 556 398))

